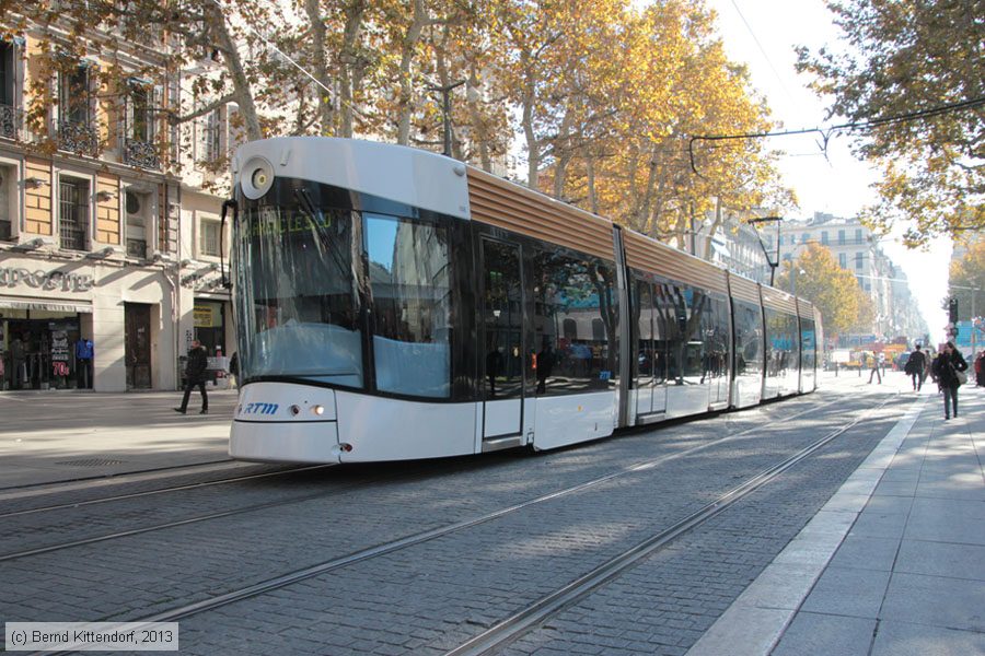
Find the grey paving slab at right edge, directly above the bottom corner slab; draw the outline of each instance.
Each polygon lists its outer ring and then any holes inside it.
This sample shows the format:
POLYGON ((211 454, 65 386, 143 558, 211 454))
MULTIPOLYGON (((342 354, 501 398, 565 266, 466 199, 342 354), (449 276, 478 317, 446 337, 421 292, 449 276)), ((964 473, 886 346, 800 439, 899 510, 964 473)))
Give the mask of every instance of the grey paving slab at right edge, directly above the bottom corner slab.
POLYGON ((985 585, 981 581, 893 573, 880 616, 985 632, 985 585))

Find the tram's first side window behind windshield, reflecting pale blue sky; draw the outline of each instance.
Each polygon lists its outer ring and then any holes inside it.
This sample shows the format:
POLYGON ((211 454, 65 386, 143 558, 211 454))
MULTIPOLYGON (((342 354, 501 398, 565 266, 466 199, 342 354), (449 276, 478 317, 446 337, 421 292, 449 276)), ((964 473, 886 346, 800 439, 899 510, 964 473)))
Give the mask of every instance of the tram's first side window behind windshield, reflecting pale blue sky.
POLYGON ((452 293, 443 226, 366 214, 376 389, 451 393, 452 293))

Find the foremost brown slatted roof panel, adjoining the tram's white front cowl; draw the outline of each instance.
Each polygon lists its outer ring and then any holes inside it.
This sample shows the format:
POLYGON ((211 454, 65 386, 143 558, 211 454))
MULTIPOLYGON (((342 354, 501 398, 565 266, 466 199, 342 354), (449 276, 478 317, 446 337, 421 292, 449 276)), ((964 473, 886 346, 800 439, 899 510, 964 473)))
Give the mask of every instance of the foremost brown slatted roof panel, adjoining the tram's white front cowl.
POLYGON ((474 221, 614 259, 611 222, 472 167, 468 204, 474 221))

